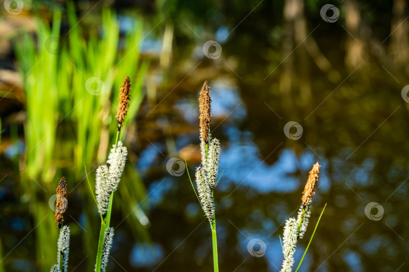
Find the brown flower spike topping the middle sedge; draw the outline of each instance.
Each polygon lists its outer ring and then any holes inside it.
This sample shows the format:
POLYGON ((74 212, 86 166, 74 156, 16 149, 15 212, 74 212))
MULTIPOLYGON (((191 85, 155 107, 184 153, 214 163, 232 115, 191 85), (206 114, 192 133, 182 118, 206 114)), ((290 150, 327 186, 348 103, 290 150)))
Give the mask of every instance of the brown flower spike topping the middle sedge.
POLYGON ((201 138, 205 144, 209 143, 210 113, 212 112, 210 93, 210 86, 208 86, 208 82, 205 81, 200 90, 199 97, 201 138))

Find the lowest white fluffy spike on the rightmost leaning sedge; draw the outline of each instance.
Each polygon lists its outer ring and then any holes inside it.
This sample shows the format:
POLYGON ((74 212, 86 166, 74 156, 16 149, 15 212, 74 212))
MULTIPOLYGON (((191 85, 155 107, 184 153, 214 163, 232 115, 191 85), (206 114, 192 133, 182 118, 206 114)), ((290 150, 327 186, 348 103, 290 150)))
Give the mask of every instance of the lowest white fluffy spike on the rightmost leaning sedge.
POLYGON ((281 272, 291 272, 294 264, 295 245, 297 243, 297 225, 294 218, 290 218, 285 222, 283 236, 283 267, 281 272))

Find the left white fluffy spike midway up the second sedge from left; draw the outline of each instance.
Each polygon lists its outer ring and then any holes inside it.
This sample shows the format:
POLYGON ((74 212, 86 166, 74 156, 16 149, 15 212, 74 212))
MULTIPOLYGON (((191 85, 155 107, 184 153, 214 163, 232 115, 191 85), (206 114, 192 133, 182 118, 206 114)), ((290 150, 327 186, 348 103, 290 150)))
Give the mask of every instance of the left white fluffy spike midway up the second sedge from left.
POLYGON ((111 195, 109 188, 107 188, 108 179, 108 167, 106 165, 98 166, 95 177, 95 198, 98 204, 98 211, 102 217, 105 217, 107 214, 111 195))

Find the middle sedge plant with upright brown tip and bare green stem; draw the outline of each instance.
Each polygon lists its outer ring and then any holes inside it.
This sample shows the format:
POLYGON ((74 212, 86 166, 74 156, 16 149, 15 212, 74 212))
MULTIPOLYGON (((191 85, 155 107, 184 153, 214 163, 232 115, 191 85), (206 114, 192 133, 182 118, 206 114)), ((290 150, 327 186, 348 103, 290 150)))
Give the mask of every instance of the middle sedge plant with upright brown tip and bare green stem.
MULTIPOLYGON (((195 178, 197 193, 196 190, 195 193, 210 223, 213 243, 213 266, 214 271, 219 271, 214 189, 221 177, 220 176, 219 180, 217 180, 220 166, 220 142, 216 138, 212 139, 210 133, 210 116, 212 111, 210 93, 210 86, 208 86, 208 82, 205 81, 203 87, 200 89, 199 97, 201 165, 196 168, 195 178)), ((191 179, 190 183, 194 189, 191 179)))

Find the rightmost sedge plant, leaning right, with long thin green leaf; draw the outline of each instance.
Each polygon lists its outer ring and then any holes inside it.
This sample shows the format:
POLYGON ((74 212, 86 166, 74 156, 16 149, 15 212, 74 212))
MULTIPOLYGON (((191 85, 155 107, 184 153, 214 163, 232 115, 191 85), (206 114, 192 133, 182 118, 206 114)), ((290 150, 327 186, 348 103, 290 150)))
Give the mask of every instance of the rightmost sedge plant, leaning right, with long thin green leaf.
MULTIPOLYGON (((294 253, 295 253, 295 247, 296 247, 297 241, 298 239, 304 237, 306 228, 309 223, 309 219, 311 217, 311 202, 313 201, 313 196, 317 188, 319 173, 320 173, 320 165, 317 162, 316 164, 314 164, 313 168, 311 169, 308 180, 305 184, 304 191, 302 193, 302 198, 301 198, 302 203, 298 211, 297 219, 290 218, 285 223, 283 243, 282 243, 284 260, 283 260, 281 272, 291 272, 292 271, 292 266, 294 264, 294 253)), ((306 254, 306 251, 308 250, 311 244, 315 231, 317 230, 318 224, 320 223, 322 214, 324 213, 325 207, 326 205, 324 206, 324 209, 321 212, 320 218, 318 219, 316 227, 314 229, 314 233, 311 236, 310 242, 308 243, 308 246, 305 249, 305 252, 301 258, 301 261, 298 264, 296 271, 299 269, 302 263, 302 260, 304 259, 304 256, 306 254)))

